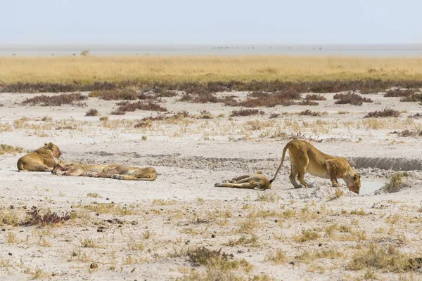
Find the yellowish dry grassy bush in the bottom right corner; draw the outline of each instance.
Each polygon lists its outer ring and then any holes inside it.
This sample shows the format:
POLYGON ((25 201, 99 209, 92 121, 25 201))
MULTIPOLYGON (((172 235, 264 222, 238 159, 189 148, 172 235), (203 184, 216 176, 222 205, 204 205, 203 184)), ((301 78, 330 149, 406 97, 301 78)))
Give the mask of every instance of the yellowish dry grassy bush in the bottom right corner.
POLYGON ((422 266, 422 258, 401 253, 396 247, 387 248, 370 244, 369 248, 358 251, 347 266, 350 270, 376 268, 388 272, 418 271, 422 266))

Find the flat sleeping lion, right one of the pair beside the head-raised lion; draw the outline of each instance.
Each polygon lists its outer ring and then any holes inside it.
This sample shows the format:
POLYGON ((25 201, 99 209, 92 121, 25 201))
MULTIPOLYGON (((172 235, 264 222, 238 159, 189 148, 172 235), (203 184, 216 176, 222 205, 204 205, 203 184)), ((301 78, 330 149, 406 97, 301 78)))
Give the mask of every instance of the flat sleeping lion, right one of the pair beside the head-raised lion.
POLYGON ((106 167, 101 173, 87 172, 94 178, 115 178, 126 181, 155 181, 157 171, 153 167, 139 168, 135 166, 114 165, 106 167))

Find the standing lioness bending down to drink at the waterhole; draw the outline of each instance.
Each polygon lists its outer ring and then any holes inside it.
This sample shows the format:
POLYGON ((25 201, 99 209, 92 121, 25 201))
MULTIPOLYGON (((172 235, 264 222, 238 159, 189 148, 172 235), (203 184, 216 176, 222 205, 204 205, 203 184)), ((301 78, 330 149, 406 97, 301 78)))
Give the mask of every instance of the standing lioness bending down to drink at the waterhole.
POLYGON ((283 156, 279 169, 277 169, 274 177, 269 181, 272 183, 277 174, 283 166, 284 155, 286 150, 290 155, 290 182, 295 188, 301 188, 302 185, 307 188, 308 184, 304 179, 305 173, 308 172, 312 176, 319 176, 320 178, 330 178, 333 187, 338 187, 339 183, 337 178, 343 178, 350 191, 359 194, 361 187, 360 175, 357 174, 349 162, 343 157, 334 157, 326 155, 325 153, 317 150, 313 145, 307 141, 294 140, 289 141, 283 148, 283 156), (297 183, 295 178, 298 176, 300 183, 297 183))

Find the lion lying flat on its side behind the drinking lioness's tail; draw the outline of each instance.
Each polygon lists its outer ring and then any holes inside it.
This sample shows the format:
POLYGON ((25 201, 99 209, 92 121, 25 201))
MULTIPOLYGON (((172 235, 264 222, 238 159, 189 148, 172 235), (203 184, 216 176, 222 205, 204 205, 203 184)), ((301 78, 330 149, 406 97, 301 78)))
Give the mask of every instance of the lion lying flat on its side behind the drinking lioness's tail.
POLYGON ((271 188, 271 183, 266 176, 262 176, 262 171, 257 171, 253 175, 244 175, 225 180, 222 183, 215 183, 217 188, 248 188, 255 190, 266 190, 271 188))

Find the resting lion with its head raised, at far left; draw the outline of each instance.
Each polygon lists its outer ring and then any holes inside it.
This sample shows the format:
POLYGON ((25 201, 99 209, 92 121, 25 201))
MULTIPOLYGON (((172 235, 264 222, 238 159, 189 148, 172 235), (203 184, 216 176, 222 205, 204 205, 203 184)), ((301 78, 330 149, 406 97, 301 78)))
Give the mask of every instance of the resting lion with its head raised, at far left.
POLYGON ((61 156, 60 149, 54 143, 46 143, 42 148, 38 148, 18 159, 19 171, 51 171, 61 156))

